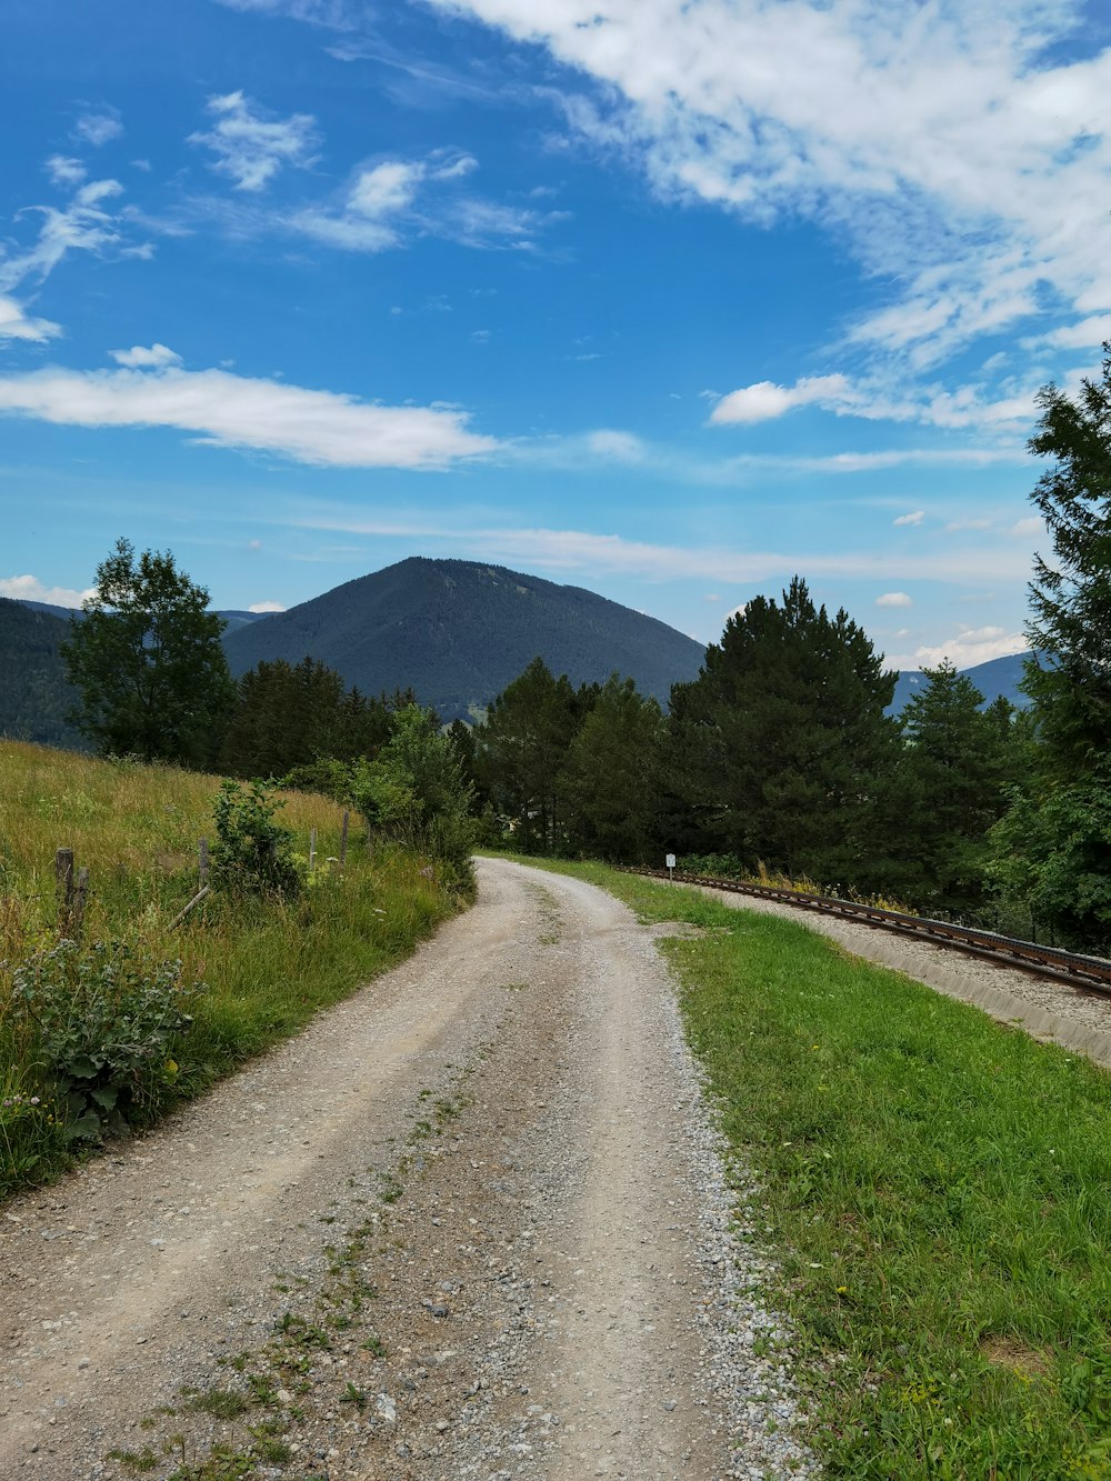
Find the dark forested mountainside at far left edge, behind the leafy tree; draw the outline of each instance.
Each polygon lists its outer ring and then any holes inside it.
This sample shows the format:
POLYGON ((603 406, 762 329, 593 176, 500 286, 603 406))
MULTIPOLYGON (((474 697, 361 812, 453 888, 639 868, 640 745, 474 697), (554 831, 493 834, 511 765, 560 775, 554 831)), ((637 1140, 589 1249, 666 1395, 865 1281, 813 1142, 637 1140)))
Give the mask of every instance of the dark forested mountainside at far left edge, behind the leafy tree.
POLYGON ((58 646, 70 624, 0 597, 0 735, 84 749, 67 723, 74 695, 58 646))

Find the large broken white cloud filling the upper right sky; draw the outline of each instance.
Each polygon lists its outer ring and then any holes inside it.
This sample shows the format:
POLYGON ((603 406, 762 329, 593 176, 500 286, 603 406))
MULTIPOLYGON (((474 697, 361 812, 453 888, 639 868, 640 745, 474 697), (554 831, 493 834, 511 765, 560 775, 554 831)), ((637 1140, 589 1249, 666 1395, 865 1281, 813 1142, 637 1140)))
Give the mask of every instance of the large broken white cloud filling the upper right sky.
POLYGON ((1111 305, 1111 47, 1080 3, 431 3, 573 68, 572 130, 658 195, 847 241, 898 284, 870 348, 929 363, 1049 301, 1111 305))

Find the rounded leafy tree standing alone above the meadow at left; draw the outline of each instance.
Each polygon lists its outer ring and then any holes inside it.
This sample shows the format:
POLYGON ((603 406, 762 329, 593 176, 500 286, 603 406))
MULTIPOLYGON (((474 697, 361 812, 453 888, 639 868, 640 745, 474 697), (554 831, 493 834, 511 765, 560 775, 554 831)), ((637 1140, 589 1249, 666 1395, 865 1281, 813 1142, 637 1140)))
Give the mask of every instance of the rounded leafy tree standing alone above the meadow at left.
POLYGON ((124 539, 96 567, 96 595, 62 644, 79 690, 74 721, 102 754, 203 766, 215 754, 233 686, 224 619, 169 552, 124 539))

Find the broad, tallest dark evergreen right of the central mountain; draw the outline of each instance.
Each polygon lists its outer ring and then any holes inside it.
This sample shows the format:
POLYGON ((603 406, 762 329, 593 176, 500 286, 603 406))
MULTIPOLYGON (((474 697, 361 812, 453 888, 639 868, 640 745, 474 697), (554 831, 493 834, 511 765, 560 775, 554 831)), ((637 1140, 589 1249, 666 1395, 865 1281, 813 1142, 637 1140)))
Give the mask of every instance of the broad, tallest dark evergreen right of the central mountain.
POLYGON ((815 607, 794 578, 755 597, 673 693, 678 788, 704 847, 824 883, 870 883, 877 794, 895 760, 895 692, 846 612, 815 607))

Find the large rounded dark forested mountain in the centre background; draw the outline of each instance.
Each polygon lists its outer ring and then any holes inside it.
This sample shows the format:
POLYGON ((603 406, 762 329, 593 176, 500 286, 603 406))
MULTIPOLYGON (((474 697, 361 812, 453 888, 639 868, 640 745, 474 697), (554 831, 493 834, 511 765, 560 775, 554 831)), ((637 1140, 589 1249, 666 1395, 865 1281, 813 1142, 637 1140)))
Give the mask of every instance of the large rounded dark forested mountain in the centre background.
POLYGON ((539 655, 573 684, 615 669, 667 702, 704 647, 581 586, 502 566, 410 557, 224 635, 233 674, 314 658, 364 693, 412 687, 444 720, 483 709, 539 655))

